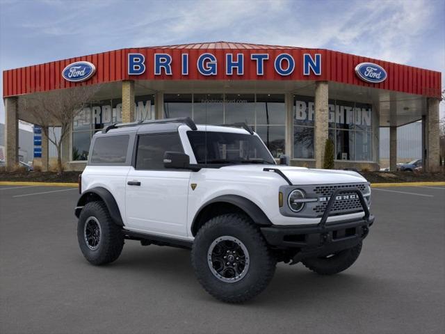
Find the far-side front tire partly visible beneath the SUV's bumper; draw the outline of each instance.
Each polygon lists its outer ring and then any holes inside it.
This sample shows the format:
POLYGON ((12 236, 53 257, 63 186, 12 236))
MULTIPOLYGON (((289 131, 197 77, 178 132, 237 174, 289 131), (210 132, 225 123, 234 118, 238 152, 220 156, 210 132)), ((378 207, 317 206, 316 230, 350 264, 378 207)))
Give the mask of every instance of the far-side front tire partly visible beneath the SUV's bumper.
POLYGON ((359 257, 361 250, 362 243, 360 242, 357 246, 341 250, 330 257, 313 257, 302 260, 302 264, 320 275, 333 275, 352 266, 359 257))

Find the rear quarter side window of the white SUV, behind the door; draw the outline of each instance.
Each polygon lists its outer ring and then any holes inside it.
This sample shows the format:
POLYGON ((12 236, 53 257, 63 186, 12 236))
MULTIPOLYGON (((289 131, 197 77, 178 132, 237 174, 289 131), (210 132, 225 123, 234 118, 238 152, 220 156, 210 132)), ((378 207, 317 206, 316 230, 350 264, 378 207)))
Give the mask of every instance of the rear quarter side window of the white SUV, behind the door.
POLYGON ((104 136, 95 140, 92 148, 92 164, 125 164, 129 135, 104 136))

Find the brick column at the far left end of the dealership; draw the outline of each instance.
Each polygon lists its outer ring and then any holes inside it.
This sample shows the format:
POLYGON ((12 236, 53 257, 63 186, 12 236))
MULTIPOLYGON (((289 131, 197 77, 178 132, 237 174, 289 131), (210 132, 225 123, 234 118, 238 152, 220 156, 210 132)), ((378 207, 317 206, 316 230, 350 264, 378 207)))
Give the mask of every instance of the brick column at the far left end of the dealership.
POLYGON ((17 97, 6 97, 5 101, 5 158, 6 168, 13 169, 19 162, 19 120, 17 97))

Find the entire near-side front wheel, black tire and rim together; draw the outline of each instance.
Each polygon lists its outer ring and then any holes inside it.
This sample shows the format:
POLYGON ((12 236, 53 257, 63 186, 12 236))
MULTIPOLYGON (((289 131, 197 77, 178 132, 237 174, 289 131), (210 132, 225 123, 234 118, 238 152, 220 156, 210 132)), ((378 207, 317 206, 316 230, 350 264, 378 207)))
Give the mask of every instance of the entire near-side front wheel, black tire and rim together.
POLYGON ((257 296, 275 273, 275 257, 259 230, 241 214, 224 214, 205 223, 191 256, 204 289, 227 303, 257 296))

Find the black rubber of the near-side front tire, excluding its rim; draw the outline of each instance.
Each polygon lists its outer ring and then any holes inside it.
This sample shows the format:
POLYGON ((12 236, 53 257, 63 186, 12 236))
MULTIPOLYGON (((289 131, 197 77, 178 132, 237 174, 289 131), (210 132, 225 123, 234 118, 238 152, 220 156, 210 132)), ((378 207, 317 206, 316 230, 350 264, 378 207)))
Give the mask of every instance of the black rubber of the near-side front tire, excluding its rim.
POLYGON ((223 214, 207 221, 197 232, 191 260, 202 287, 216 299, 227 303, 242 303, 257 296, 267 287, 277 264, 258 228, 248 216, 242 214, 223 214), (245 276, 232 283, 216 278, 210 269, 207 256, 213 241, 223 236, 241 241, 250 258, 245 276))

